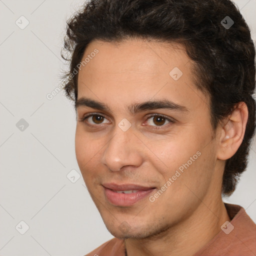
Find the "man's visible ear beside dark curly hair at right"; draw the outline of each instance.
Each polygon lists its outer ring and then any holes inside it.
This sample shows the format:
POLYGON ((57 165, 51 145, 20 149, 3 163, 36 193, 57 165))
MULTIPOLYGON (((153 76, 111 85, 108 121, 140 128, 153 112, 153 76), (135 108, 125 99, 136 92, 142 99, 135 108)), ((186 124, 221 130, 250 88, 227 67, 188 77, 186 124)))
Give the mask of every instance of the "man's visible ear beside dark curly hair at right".
POLYGON ((233 112, 221 121, 218 159, 226 160, 235 154, 242 143, 247 119, 248 108, 244 102, 239 102, 233 112))

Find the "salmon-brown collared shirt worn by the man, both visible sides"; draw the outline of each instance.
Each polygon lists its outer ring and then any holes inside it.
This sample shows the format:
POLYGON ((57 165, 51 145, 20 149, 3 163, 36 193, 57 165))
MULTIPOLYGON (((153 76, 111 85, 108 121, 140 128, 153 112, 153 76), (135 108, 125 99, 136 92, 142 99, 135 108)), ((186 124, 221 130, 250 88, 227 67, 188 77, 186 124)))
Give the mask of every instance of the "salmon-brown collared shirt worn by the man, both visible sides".
MULTIPOLYGON (((256 256, 256 224, 243 207, 229 203, 225 207, 231 225, 222 225, 222 230, 191 256, 256 256)), ((124 240, 112 238, 85 256, 125 256, 124 240)))

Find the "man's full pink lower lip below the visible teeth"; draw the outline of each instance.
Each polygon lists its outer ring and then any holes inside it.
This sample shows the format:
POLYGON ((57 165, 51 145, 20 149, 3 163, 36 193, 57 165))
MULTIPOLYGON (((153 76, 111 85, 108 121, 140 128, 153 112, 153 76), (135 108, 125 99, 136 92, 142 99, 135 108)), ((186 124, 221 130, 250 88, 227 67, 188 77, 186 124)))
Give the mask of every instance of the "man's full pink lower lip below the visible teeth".
POLYGON ((104 187, 104 192, 107 200, 118 206, 130 206, 135 202, 145 198, 149 195, 155 188, 151 188, 148 190, 138 190, 136 193, 117 193, 109 188, 104 187))

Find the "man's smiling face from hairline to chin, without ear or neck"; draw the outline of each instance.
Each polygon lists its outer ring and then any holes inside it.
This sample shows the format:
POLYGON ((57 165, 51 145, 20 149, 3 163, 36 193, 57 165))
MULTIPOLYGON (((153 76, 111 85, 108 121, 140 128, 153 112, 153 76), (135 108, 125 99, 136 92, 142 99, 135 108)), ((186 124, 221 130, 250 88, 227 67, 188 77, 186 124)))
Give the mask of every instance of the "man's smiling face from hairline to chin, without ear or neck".
POLYGON ((93 41, 82 60, 88 54, 78 75, 75 151, 108 230, 119 238, 148 237, 187 219, 202 200, 214 201, 221 178, 209 99, 194 85, 184 49, 130 39, 93 41), (109 109, 86 106, 82 97, 109 109), (139 107, 163 100, 173 104, 139 107))

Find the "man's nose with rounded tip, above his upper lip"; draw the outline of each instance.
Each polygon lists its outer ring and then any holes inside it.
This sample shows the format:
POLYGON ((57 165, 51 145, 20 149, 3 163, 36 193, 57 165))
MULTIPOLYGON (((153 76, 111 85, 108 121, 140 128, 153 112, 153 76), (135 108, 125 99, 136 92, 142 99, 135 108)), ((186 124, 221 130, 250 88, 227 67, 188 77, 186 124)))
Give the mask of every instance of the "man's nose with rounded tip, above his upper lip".
POLYGON ((126 165, 140 166, 143 156, 142 145, 139 142, 132 128, 123 131, 117 126, 114 135, 107 143, 101 162, 112 171, 118 171, 126 165))

